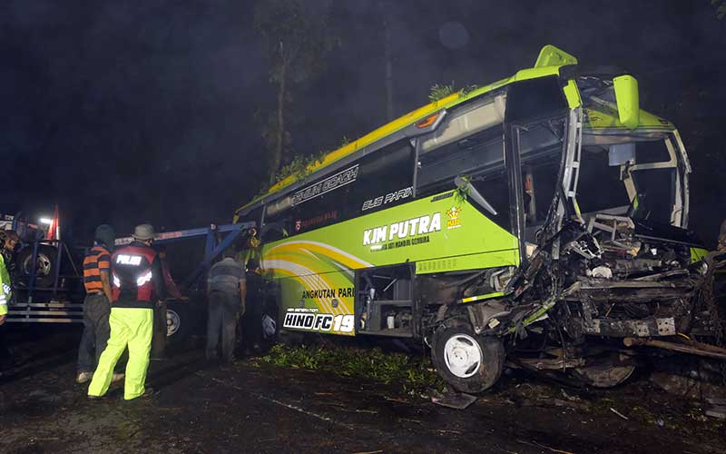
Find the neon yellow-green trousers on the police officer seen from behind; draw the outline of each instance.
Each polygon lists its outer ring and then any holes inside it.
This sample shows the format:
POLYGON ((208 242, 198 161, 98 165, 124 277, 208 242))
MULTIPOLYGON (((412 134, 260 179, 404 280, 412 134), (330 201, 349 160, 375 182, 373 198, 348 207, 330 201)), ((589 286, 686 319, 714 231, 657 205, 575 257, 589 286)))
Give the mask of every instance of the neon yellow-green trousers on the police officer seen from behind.
POLYGON ((108 318, 111 337, 98 359, 93 380, 88 387, 89 396, 103 396, 113 377, 113 368, 123 350, 129 347, 129 362, 123 384, 123 399, 132 400, 144 392, 149 352, 152 350, 153 310, 142 308, 111 308, 108 318))

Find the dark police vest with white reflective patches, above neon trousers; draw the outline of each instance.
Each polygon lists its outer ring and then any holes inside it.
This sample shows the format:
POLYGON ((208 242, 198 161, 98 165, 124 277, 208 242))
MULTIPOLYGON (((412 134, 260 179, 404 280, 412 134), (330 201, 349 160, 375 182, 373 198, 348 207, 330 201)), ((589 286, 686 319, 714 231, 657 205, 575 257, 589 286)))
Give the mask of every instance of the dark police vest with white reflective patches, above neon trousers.
POLYGON ((111 257, 112 307, 153 308, 164 298, 162 266, 152 248, 132 242, 111 257))

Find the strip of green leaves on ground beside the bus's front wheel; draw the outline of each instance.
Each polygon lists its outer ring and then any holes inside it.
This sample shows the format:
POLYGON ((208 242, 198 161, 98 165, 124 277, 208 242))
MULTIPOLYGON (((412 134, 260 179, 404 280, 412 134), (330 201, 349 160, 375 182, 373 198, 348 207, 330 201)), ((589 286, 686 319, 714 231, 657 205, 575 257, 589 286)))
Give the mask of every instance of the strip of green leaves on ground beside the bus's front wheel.
POLYGON ((443 380, 430 369, 427 360, 380 349, 363 350, 333 345, 286 347, 279 344, 272 347, 261 360, 281 367, 326 370, 346 377, 397 383, 407 392, 428 388, 440 390, 444 386, 443 380))

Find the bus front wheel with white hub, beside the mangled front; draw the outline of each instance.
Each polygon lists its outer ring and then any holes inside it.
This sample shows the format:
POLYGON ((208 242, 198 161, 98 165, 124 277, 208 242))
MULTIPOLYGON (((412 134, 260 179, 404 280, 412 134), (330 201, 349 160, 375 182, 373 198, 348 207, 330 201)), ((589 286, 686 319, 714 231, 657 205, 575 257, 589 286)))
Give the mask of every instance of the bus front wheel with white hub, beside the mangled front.
POLYGON ((431 359, 441 378, 455 390, 476 393, 499 380, 505 349, 499 339, 480 336, 468 322, 452 319, 434 332, 431 359))

